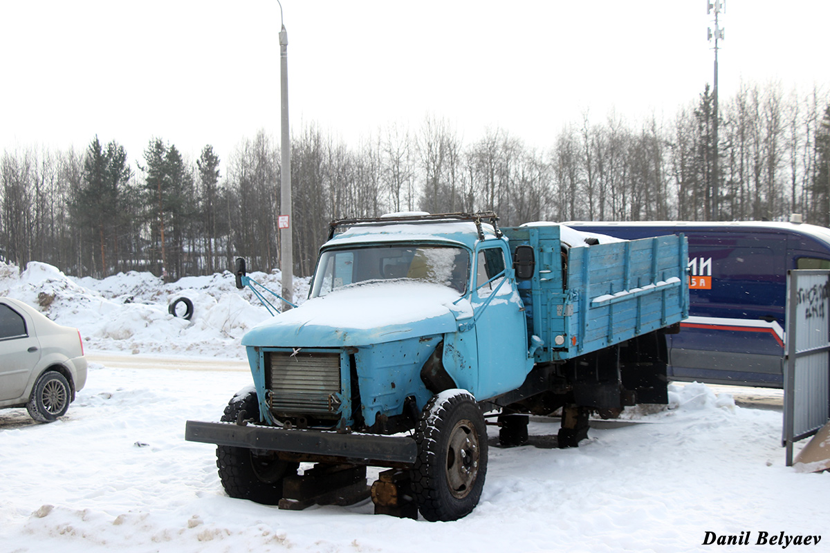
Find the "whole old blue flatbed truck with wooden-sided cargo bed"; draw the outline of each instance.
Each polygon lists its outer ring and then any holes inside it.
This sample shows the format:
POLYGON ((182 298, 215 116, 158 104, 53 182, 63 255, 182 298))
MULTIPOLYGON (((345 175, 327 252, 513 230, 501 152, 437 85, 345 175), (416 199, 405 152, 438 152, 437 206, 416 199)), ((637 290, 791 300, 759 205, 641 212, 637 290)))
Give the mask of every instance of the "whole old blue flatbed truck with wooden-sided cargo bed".
POLYGON ((495 213, 333 221, 309 299, 242 338, 252 386, 186 439, 217 444, 232 497, 299 509, 365 492, 375 512, 456 520, 481 496, 487 420, 520 445, 529 415, 561 410, 569 447, 592 412, 666 403, 686 267, 676 235, 500 228, 495 213), (367 466, 387 469, 371 490, 367 466))

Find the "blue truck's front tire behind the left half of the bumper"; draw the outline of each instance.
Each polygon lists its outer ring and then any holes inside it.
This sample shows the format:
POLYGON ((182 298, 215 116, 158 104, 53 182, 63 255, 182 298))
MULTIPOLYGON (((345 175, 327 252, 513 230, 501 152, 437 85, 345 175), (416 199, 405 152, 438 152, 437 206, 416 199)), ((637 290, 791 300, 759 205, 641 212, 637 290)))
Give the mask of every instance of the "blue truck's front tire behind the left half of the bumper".
MULTIPOLYGON (((243 418, 259 420, 255 391, 241 398, 234 397, 225 408, 222 422, 237 422, 242 411, 245 411, 243 418)), ((276 452, 218 445, 216 466, 222 488, 230 497, 276 505, 282 498, 283 479, 296 474, 300 465, 282 461, 276 452)))

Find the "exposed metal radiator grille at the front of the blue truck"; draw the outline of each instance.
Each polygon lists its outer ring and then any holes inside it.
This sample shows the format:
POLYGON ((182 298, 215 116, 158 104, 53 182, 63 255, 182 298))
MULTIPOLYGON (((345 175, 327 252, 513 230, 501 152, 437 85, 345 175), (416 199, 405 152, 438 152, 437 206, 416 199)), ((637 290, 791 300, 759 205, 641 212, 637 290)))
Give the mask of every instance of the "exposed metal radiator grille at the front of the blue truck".
POLYGON ((271 410, 285 415, 334 415, 330 400, 340 391, 339 353, 270 352, 266 355, 266 385, 271 410))

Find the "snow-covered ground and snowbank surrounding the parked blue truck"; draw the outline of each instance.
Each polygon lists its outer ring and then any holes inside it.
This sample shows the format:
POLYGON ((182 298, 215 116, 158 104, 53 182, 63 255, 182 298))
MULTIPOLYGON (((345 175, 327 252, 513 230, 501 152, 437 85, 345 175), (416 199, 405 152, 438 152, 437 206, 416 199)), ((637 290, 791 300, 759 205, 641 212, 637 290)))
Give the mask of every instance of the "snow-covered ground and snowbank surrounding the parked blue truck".
MULTIPOLYGON (((279 289, 278 274, 253 276, 279 289)), ((713 386, 675 385, 670 409, 598 423, 579 449, 550 449, 558 424, 533 422, 530 445, 491 448, 481 502, 461 521, 374 516, 371 501, 287 512, 227 497, 212 446, 183 439, 185 420, 217 420, 250 382, 239 338, 268 314, 231 274, 163 285, 148 274, 98 282, 0 265, 0 295, 46 303, 51 318, 80 327, 92 361, 56 423, 0 410, 2 553, 781 547, 756 545, 761 532, 822 536, 787 550, 830 551, 830 473, 784 466, 780 390, 752 390, 773 406, 756 409, 713 386), (195 304, 190 323, 167 312, 181 295, 195 304), (749 532, 750 545, 703 545, 707 531, 749 532)))

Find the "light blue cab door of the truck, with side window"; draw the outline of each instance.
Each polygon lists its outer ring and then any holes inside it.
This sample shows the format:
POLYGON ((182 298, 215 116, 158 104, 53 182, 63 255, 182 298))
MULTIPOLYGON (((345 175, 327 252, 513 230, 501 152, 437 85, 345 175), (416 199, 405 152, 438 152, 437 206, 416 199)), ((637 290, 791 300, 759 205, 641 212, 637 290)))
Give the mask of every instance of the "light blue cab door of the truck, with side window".
POLYGON ((513 269, 506 264, 509 259, 501 242, 476 248, 471 303, 476 318, 475 393, 479 399, 515 390, 529 370, 525 308, 516 291, 513 269))

